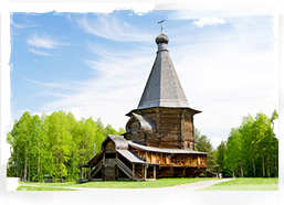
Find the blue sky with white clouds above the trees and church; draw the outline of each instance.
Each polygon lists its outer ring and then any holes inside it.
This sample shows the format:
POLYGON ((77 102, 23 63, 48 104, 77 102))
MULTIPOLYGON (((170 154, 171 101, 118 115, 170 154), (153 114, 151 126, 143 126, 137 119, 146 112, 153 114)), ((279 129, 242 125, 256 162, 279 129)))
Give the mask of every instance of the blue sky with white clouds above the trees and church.
POLYGON ((264 11, 11 14, 11 114, 72 111, 115 129, 136 109, 155 61, 157 23, 194 116, 214 147, 242 117, 277 109, 274 17, 264 11))

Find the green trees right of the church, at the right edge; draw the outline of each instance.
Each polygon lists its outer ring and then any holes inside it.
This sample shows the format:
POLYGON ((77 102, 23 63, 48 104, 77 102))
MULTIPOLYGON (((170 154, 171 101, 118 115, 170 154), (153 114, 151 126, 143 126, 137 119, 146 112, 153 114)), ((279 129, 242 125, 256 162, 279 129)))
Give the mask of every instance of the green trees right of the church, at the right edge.
POLYGON ((278 175, 278 139, 273 132, 273 121, 277 118, 276 110, 271 118, 262 112, 255 119, 249 115, 239 128, 231 130, 224 163, 218 161, 228 176, 230 173, 239 177, 278 175))

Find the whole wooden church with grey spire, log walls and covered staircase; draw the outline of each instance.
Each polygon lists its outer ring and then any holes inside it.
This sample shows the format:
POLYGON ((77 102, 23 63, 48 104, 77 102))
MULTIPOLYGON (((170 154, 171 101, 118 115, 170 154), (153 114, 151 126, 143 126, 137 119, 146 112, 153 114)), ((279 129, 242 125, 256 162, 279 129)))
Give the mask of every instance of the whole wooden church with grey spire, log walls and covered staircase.
POLYGON ((149 78, 137 109, 126 116, 126 133, 107 136, 86 164, 88 181, 194 177, 207 169, 207 154, 194 151, 193 116, 161 33, 149 78))

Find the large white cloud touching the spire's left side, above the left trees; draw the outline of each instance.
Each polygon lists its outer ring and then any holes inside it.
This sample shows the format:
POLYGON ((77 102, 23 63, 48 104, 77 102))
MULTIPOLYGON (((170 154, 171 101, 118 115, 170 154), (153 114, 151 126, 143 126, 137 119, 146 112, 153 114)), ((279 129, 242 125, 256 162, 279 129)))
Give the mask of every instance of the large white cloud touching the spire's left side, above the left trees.
POLYGON ((141 47, 127 54, 115 50, 97 48, 101 51, 97 62, 84 61, 96 74, 91 75, 85 82, 57 84, 27 80, 42 86, 39 95, 53 96, 54 90, 70 94, 59 96, 54 101, 43 105, 42 110, 72 111, 76 119, 101 118, 103 122, 118 129, 126 125, 128 117, 125 115, 137 108, 155 56, 148 48, 141 47))

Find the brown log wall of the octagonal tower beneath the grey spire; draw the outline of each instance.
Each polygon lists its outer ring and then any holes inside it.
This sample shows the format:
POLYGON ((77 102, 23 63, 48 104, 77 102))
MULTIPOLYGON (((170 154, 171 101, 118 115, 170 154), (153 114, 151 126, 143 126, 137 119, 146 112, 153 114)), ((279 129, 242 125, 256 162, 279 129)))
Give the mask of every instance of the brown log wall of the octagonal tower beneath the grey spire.
MULTIPOLYGON (((132 129, 133 137, 126 136, 127 140, 157 148, 189 149, 194 150, 193 115, 190 109, 181 108, 149 108, 136 111, 150 119, 156 128, 155 134, 145 133, 138 136, 132 129)), ((132 125, 136 128, 135 123, 132 125)))

